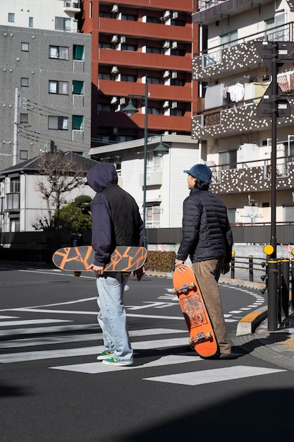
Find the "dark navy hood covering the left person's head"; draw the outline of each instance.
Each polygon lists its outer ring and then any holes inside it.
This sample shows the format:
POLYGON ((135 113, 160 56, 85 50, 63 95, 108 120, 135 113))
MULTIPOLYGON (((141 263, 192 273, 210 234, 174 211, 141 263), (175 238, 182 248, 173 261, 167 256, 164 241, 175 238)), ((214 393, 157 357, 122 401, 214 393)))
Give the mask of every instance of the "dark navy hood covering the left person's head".
POLYGON ((87 173, 87 183, 95 192, 101 192, 109 184, 117 184, 116 167, 110 162, 99 162, 87 173))

